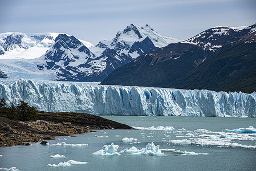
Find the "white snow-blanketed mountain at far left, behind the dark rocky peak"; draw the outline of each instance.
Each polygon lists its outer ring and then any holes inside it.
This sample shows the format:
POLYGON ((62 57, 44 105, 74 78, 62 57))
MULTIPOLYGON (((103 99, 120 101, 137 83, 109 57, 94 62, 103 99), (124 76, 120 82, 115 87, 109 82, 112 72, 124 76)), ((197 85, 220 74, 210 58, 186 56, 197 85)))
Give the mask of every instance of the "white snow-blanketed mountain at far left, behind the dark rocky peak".
MULTIPOLYGON (((34 59, 49 50, 55 42, 58 32, 26 34, 22 32, 6 32, 0 34, 0 59, 34 59)), ((93 45, 81 40, 87 47, 93 45)))

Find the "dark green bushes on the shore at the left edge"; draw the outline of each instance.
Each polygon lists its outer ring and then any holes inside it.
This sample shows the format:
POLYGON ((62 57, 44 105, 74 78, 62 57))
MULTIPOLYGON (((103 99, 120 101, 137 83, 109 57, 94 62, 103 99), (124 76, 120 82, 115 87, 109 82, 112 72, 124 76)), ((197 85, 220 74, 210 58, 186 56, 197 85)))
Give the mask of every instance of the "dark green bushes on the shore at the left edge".
POLYGON ((13 103, 7 105, 4 98, 0 99, 0 116, 16 121, 37 120, 39 117, 36 107, 30 107, 28 103, 19 100, 19 104, 15 106, 13 103))

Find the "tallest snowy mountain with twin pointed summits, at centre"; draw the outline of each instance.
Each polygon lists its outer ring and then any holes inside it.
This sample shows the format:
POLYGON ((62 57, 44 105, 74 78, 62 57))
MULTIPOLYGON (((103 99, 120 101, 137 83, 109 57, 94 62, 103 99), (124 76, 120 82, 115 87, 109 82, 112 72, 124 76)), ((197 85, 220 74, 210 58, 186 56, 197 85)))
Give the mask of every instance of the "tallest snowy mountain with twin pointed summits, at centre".
POLYGON ((112 40, 100 41, 96 47, 92 48, 92 51, 100 54, 106 48, 110 48, 119 54, 130 55, 132 58, 137 58, 137 56, 145 52, 177 42, 181 42, 181 40, 171 36, 162 36, 149 25, 137 27, 131 24, 123 31, 117 32, 115 38, 112 40), (132 48, 135 42, 137 43, 137 47, 132 48))

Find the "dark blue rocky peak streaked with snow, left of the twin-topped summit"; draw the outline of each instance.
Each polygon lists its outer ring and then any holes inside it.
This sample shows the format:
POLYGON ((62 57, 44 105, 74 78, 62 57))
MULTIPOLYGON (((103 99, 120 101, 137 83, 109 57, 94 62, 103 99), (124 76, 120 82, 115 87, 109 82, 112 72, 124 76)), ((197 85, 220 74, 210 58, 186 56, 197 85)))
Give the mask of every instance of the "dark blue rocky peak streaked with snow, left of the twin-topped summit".
POLYGON ((130 62, 131 57, 109 48, 101 56, 96 56, 74 36, 59 34, 50 50, 39 60, 44 64, 38 64, 38 68, 55 71, 56 80, 99 82, 115 68, 130 62))

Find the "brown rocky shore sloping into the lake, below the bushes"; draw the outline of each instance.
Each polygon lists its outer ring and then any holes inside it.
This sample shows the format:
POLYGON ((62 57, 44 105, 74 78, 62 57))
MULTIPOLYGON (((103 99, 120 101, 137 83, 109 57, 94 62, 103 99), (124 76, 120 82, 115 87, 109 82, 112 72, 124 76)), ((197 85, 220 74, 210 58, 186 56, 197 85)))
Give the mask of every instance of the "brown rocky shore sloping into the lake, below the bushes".
POLYGON ((0 147, 30 145, 55 136, 82 134, 92 129, 132 129, 128 125, 87 113, 39 112, 37 121, 13 121, 0 117, 0 147))

